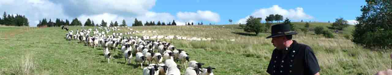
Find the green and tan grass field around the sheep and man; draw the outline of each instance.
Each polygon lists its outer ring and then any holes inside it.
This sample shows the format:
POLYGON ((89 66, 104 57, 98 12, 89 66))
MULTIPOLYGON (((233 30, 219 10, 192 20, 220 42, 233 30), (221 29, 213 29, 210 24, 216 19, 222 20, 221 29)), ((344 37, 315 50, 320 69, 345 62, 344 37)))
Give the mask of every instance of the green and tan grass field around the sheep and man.
MULTIPOLYGON (((302 27, 304 23, 293 22, 302 27)), ((329 26, 330 23, 311 23, 316 26, 329 26)), ((92 27, 91 27, 92 28, 92 27)), ((157 31, 142 35, 181 35, 186 37, 222 38, 224 40, 187 41, 166 40, 178 49, 185 49, 191 60, 215 67, 215 75, 267 75, 272 49, 271 39, 265 39, 270 33, 243 32, 238 25, 221 26, 145 26, 131 27, 134 30, 157 31), (236 39, 236 41, 229 41, 236 39)), ((70 27, 71 30, 81 27, 70 27)), ((371 75, 376 71, 390 68, 390 52, 371 51, 356 46, 341 35, 349 35, 353 26, 344 33, 334 34, 336 38, 324 38, 299 32, 294 40, 308 44, 314 50, 325 75, 371 75)), ((129 31, 129 30, 128 30, 129 31)), ((128 32, 123 28, 121 32, 128 32)), ((65 40, 66 31, 60 27, 26 28, 0 26, 0 75, 140 75, 142 69, 135 65, 126 65, 120 52, 114 52, 114 58, 107 64, 102 55, 102 48, 94 49, 65 40), (5 37, 5 36, 7 37, 5 37)), ((183 73, 184 68, 181 68, 183 73)))

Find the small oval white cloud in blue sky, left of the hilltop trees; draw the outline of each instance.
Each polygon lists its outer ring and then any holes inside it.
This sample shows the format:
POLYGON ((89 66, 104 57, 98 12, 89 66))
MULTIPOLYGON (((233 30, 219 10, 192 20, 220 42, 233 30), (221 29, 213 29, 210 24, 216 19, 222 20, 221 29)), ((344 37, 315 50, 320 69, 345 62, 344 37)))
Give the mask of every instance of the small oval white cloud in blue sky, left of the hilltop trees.
POLYGON ((219 22, 220 15, 211 11, 200 11, 194 12, 178 12, 177 17, 185 22, 207 20, 211 22, 219 22))

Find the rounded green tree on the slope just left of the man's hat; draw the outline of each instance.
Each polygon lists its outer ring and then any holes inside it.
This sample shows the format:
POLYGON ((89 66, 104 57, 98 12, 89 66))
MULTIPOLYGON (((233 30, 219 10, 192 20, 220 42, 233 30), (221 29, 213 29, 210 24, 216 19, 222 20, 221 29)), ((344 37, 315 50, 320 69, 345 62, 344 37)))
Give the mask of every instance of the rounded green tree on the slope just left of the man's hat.
POLYGON ((249 16, 246 20, 246 25, 241 26, 245 32, 253 32, 258 35, 261 31, 263 31, 263 27, 261 25, 261 18, 255 18, 253 16, 249 16))

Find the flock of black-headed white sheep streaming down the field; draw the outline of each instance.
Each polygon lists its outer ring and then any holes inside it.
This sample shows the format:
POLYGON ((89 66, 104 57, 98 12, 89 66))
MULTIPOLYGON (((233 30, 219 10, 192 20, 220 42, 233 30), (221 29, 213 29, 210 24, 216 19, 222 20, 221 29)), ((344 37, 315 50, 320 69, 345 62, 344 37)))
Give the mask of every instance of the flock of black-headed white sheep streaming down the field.
MULTIPOLYGON (((68 31, 67 27, 62 27, 68 31)), ((129 30, 132 30, 128 28, 129 30)), ((148 66, 143 68, 143 75, 181 75, 180 66, 186 68, 185 75, 214 75, 211 66, 202 68, 203 63, 190 60, 189 54, 184 49, 177 49, 170 42, 160 41, 159 39, 186 39, 186 40, 212 40, 212 38, 187 38, 181 36, 143 36, 141 38, 131 34, 140 33, 132 31, 125 33, 116 33, 119 27, 97 27, 93 29, 76 29, 66 33, 65 38, 68 41, 78 40, 87 46, 103 47, 103 55, 105 60, 110 63, 113 51, 121 51, 125 59, 125 63, 131 64, 132 58, 140 68, 143 64, 148 66), (100 31, 99 31, 100 30, 100 31), (93 32, 93 35, 90 33, 93 32), (109 35, 112 33, 112 35, 109 35), (130 37, 126 37, 129 35, 130 37), (156 39, 156 40, 152 40, 156 39), (118 47, 121 50, 118 50, 118 47), (132 54, 136 54, 135 57, 132 54), (179 62, 180 65, 177 65, 179 62)), ((156 33, 156 31, 148 31, 156 33)), ((142 31, 142 33, 145 33, 142 31)))

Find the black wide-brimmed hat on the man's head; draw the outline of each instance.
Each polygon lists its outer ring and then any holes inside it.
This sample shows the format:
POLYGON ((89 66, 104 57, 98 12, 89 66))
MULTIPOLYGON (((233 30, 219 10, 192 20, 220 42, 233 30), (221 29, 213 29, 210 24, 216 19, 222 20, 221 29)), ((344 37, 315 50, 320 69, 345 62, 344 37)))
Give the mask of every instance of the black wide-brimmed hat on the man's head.
POLYGON ((289 24, 276 24, 271 27, 271 36, 267 38, 286 36, 286 35, 296 35, 297 32, 290 31, 289 24))

